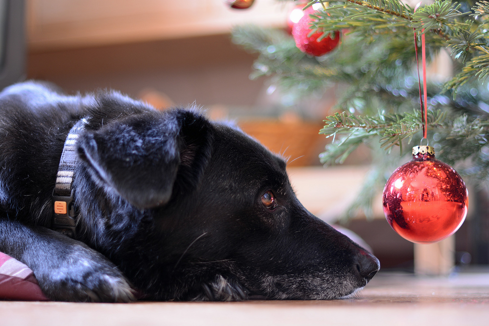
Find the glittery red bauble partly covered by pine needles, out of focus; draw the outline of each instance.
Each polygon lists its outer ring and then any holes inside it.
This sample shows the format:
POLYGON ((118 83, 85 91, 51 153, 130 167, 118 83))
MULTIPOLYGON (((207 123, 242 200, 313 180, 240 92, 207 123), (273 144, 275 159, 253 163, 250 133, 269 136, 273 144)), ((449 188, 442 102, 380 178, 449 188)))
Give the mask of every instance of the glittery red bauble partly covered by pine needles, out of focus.
POLYGON ((317 41, 321 35, 322 31, 317 31, 311 36, 311 18, 309 14, 314 13, 312 6, 304 10, 304 16, 299 20, 299 22, 293 24, 292 35, 295 40, 295 45, 302 51, 311 54, 315 57, 322 56, 331 50, 333 50, 339 44, 339 31, 328 35, 321 41, 317 41))

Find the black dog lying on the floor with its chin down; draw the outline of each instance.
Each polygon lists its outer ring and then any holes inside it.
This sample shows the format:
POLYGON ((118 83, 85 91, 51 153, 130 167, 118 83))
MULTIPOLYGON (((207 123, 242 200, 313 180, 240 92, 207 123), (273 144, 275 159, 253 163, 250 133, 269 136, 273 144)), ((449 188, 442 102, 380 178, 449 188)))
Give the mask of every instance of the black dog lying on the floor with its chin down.
POLYGON ((0 93, 0 138, 0 251, 53 300, 334 299, 379 269, 300 204, 280 157, 193 110, 26 82, 0 93), (79 121, 71 239, 52 196, 79 121))

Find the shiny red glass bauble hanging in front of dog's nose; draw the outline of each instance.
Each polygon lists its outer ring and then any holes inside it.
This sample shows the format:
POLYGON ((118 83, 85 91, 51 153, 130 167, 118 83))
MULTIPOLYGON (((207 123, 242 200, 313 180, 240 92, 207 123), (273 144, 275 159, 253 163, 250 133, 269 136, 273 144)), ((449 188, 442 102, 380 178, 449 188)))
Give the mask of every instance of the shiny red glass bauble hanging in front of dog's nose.
POLYGON ((433 243, 448 238, 467 216, 467 188, 431 146, 413 147, 413 160, 391 175, 382 195, 387 221, 402 238, 433 243))

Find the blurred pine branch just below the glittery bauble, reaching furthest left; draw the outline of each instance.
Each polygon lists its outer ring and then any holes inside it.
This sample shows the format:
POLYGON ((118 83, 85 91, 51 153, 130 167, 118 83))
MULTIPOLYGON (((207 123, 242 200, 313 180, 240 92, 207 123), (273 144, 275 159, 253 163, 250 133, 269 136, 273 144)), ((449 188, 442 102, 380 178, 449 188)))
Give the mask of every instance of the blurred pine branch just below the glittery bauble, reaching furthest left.
POLYGON ((401 78, 410 73, 414 57, 412 43, 396 38, 373 44, 363 41, 360 36, 350 36, 343 40, 341 51, 311 58, 283 31, 256 26, 233 30, 234 43, 260 54, 250 77, 273 76, 274 84, 297 95, 322 89, 331 82, 364 88, 363 85, 387 82, 392 76, 401 78))

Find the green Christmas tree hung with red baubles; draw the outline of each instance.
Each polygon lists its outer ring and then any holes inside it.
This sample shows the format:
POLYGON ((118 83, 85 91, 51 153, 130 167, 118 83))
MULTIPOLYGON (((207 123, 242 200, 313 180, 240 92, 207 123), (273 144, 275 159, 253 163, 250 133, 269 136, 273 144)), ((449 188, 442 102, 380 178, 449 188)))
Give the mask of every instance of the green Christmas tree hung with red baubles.
POLYGON ((235 28, 233 41, 259 53, 252 78, 268 76, 288 94, 307 96, 332 83, 345 87, 336 113, 325 117, 320 130, 333 138, 320 160, 326 166, 341 164, 361 144, 373 156, 364 183, 367 196, 359 196, 345 218, 358 210, 371 216, 373 197, 392 171, 410 159, 410 148, 420 144, 424 123, 416 52, 421 62, 422 34, 428 63, 441 51, 449 51, 453 62, 451 78, 428 75, 426 80, 429 145, 467 181, 488 184, 488 1, 437 0, 416 10, 398 0, 312 0, 301 5, 309 14, 309 35, 319 32, 319 40, 334 39, 341 31, 339 47, 315 57, 302 52, 286 31, 256 26, 235 28), (311 10, 313 5, 317 9, 311 10))

